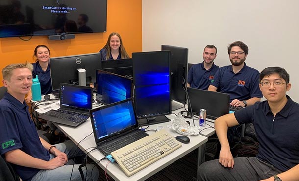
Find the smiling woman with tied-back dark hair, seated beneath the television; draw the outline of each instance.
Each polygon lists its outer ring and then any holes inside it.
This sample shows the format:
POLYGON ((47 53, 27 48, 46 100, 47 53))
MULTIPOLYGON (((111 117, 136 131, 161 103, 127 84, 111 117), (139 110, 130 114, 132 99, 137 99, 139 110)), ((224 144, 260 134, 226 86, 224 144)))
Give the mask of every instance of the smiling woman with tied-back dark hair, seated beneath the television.
MULTIPOLYGON (((35 63, 33 63, 32 77, 35 78, 38 75, 39 82, 41 84, 42 95, 49 94, 52 91, 51 74, 50 74, 50 50, 46 45, 38 45, 34 49, 33 57, 35 63)), ((25 101, 29 103, 32 100, 32 92, 29 91, 25 101)))

